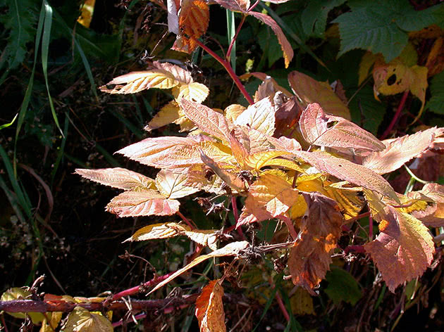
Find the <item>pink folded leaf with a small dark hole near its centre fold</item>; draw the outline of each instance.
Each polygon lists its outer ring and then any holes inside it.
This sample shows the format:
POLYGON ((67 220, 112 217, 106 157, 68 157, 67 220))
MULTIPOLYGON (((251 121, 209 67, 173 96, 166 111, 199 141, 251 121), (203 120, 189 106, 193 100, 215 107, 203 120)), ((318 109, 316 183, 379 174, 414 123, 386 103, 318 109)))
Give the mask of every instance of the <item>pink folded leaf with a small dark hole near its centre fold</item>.
POLYGON ((323 112, 319 103, 310 103, 300 117, 304 139, 317 146, 382 151, 386 146, 376 137, 343 117, 323 112))

